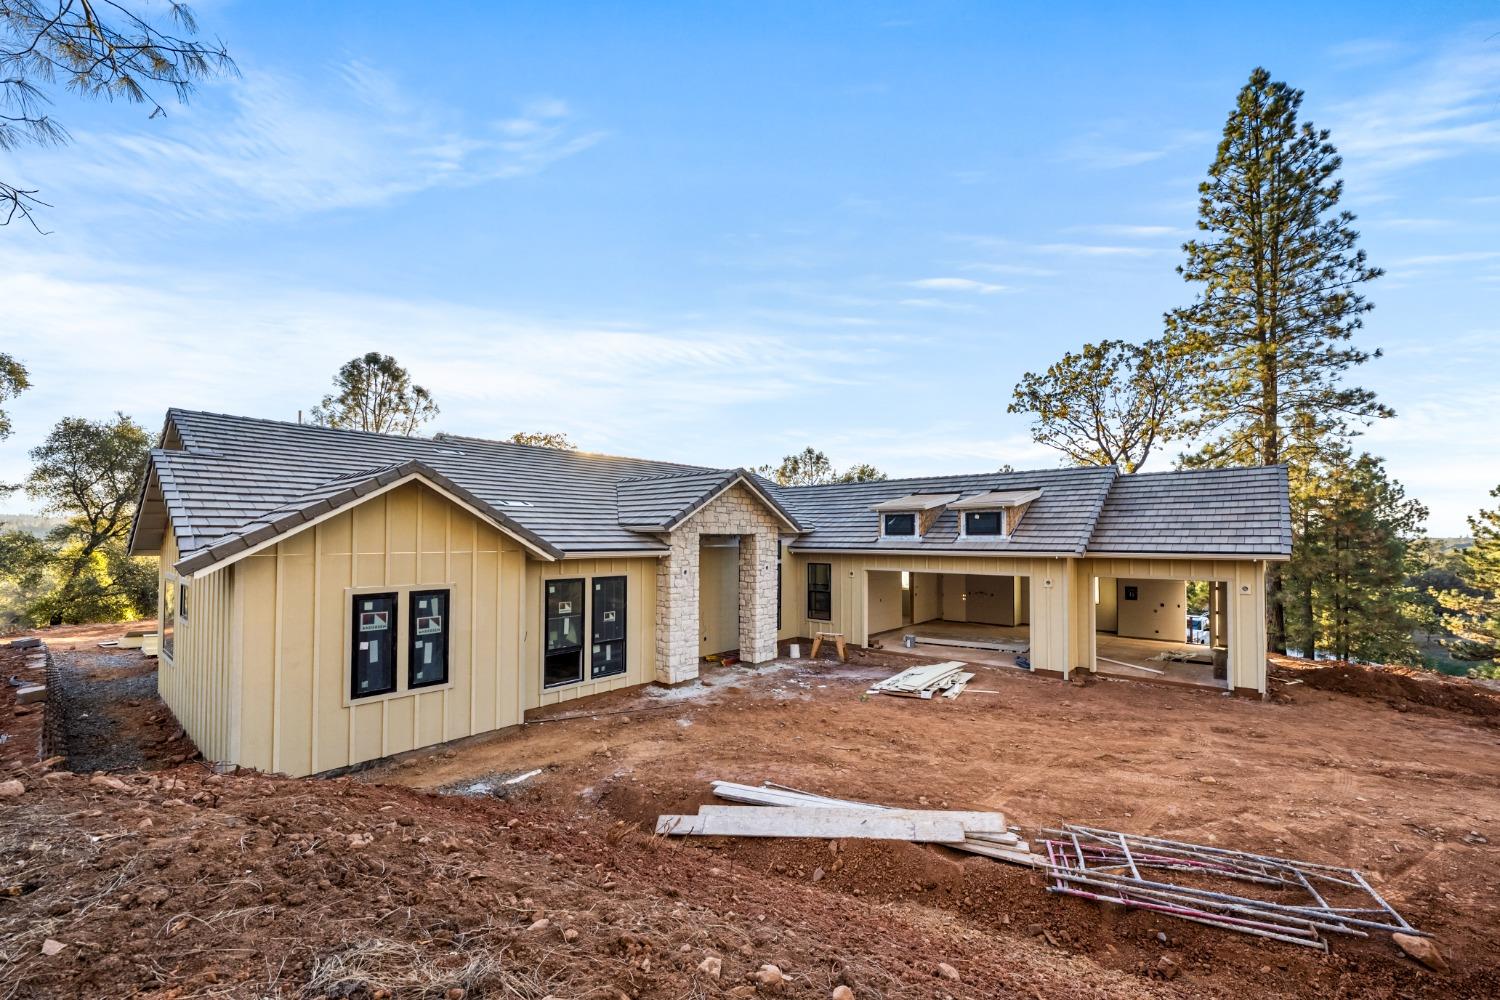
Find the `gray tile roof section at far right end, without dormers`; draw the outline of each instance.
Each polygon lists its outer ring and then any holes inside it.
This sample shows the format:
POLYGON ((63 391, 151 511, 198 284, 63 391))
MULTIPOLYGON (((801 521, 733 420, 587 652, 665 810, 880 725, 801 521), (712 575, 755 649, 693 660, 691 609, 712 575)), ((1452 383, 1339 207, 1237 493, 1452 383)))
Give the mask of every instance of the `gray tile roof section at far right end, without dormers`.
POLYGON ((1089 552, 1290 556, 1287 469, 1122 475, 1100 511, 1089 552))

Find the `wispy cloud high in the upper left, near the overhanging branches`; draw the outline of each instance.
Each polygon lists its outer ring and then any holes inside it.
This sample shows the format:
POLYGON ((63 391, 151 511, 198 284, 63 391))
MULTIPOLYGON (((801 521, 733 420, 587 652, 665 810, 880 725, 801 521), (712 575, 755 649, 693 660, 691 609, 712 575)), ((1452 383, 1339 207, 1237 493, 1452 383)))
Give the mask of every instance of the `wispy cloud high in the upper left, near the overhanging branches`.
POLYGON ((464 123, 363 61, 322 85, 252 72, 219 94, 226 114, 194 106, 162 129, 80 135, 30 172, 194 219, 298 216, 534 174, 604 136, 556 97, 464 123))

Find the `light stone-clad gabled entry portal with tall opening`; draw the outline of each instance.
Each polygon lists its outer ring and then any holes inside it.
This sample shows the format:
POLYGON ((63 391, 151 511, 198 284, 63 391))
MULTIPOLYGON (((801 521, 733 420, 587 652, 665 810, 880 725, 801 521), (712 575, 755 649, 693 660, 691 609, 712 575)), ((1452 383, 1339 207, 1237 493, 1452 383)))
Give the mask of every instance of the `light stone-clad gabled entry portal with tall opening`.
POLYGON ((704 535, 740 535, 740 658, 776 658, 776 556, 782 525, 750 490, 734 484, 668 535, 657 565, 657 681, 698 676, 704 535))

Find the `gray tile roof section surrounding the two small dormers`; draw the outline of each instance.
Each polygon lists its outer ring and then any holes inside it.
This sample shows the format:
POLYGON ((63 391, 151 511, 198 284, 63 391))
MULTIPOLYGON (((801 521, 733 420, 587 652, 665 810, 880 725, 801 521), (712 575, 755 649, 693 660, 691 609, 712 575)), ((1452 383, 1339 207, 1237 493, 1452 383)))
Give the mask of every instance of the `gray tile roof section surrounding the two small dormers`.
POLYGON ((914 549, 932 552, 1062 553, 1080 555, 1094 519, 1114 481, 1113 466, 1050 469, 1044 472, 988 472, 940 475, 922 480, 882 480, 832 486, 774 487, 776 496, 812 532, 794 549, 914 549), (945 510, 921 538, 880 538, 880 516, 873 504, 908 493, 974 495, 988 490, 1032 490, 1038 496, 1010 538, 958 540, 958 514, 945 510))

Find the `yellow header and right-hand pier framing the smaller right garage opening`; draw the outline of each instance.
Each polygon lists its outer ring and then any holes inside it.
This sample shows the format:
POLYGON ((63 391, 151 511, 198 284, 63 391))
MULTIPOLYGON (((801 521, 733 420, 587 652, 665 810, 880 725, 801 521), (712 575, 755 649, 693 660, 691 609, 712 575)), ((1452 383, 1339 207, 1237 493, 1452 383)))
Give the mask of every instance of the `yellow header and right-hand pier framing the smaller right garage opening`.
MULTIPOLYGON (((1226 585, 1230 688, 1266 693, 1266 564, 1260 559, 1083 559, 1078 573, 1131 580, 1214 580, 1226 585)), ((1124 603, 1122 603, 1124 606, 1124 603)), ((1077 666, 1095 663, 1094 633, 1077 666)))

